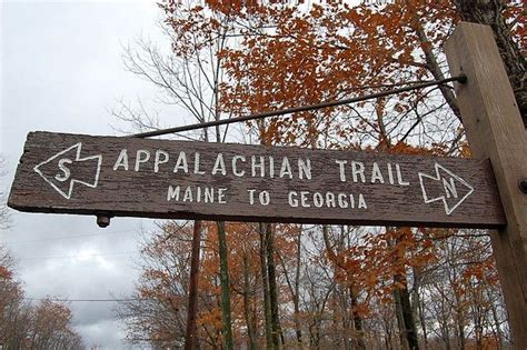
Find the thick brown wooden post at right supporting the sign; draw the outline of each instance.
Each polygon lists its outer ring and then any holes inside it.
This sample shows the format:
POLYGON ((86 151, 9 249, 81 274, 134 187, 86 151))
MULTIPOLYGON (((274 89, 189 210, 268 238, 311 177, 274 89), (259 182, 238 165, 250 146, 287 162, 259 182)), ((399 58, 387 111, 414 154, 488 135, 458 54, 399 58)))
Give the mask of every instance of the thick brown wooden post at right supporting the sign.
MULTIPOLYGON (((527 349, 527 178, 526 130, 490 27, 461 22, 445 51, 456 84, 463 123, 473 154, 489 158, 507 227, 491 232, 514 349, 527 349)), ((475 189, 477 191, 478 189, 475 189)))

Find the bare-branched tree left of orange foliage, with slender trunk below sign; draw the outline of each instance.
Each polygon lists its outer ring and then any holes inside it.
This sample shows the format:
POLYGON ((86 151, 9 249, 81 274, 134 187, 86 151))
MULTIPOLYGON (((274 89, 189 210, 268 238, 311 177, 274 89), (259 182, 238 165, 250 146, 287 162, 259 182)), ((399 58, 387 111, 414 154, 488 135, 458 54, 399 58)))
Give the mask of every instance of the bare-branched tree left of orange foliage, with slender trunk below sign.
MULTIPOLYGON (((207 11, 192 1, 166 1, 160 4, 166 14, 163 29, 171 42, 171 52, 163 56, 152 44, 140 42, 139 50, 127 50, 127 68, 143 79, 151 81, 162 92, 167 104, 178 104, 198 122, 229 118, 219 107, 219 90, 223 83, 222 59, 218 54, 229 39, 230 16, 207 11)), ((155 120, 145 113, 137 113, 122 104, 115 114, 132 122, 140 130, 158 128, 155 120)), ((223 142, 226 130, 216 127, 213 132, 205 129, 199 137, 206 142, 223 142)), ((225 222, 217 222, 219 236, 221 310, 223 342, 232 348, 230 319, 230 288, 227 259, 227 237, 225 222)), ((198 239, 198 238, 197 238, 198 239)))

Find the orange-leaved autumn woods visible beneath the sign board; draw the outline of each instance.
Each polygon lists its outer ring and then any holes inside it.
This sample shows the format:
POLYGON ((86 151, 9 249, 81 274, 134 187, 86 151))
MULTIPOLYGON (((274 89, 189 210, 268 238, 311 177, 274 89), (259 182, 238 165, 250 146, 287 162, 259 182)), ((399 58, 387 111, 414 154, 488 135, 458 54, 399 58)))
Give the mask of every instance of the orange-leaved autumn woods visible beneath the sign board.
MULTIPOLYGON (((259 237, 252 223, 228 223, 236 344, 265 344, 259 237), (249 334, 249 329, 252 334, 249 334), (250 337, 253 339, 251 340, 250 337)), ((129 340, 182 346, 192 228, 167 223, 143 246, 137 298, 122 306, 129 340)), ((411 276, 412 301, 430 346, 506 341, 505 314, 489 242, 478 231, 276 227, 280 326, 286 343, 321 347, 396 343, 397 273, 411 276), (324 242, 326 240, 326 242, 324 242), (396 241, 400 243, 395 244, 396 241), (329 246, 329 247, 328 247, 329 246), (295 302, 298 303, 297 308, 295 302), (355 322, 355 323, 354 323, 355 322), (360 329, 357 329, 357 323, 360 329), (465 334, 459 334, 461 327, 465 334), (453 333, 448 333, 453 332, 453 333), (300 337, 297 337, 300 334, 300 337)), ((221 347, 216 226, 202 236, 198 339, 221 347)), ((237 346, 237 347, 238 347, 237 346)))

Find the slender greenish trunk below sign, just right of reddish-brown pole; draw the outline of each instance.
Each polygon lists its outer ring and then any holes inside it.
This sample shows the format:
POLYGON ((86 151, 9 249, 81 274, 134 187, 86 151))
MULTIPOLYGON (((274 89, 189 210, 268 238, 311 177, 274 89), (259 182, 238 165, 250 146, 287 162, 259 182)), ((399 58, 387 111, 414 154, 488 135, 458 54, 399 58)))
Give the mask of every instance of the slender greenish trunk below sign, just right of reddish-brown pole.
POLYGON ((221 286, 221 322, 223 348, 231 350, 235 348, 232 342, 232 329, 230 319, 230 282, 229 282, 229 263, 227 251, 227 234, 225 232, 225 222, 217 221, 218 228, 218 246, 220 258, 220 286, 221 286))

